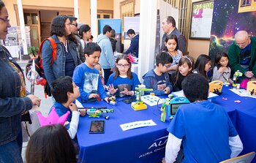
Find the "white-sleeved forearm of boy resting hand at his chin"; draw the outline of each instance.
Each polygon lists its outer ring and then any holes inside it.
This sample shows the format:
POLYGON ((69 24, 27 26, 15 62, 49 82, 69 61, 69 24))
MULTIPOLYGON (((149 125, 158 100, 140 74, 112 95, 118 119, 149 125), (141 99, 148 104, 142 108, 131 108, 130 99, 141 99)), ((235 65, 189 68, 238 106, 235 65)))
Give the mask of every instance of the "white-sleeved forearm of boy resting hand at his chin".
POLYGON ((72 118, 69 124, 69 129, 67 130, 71 139, 74 139, 75 134, 77 134, 78 132, 79 115, 80 115, 80 112, 72 111, 72 118))

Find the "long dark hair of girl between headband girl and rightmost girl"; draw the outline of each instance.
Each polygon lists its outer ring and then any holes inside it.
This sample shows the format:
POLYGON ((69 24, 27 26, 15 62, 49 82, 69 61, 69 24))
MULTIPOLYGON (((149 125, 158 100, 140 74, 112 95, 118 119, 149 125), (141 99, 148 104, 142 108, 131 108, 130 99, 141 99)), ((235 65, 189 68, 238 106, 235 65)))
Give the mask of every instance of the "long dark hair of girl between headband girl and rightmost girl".
POLYGON ((198 56, 197 61, 195 61, 195 69, 204 77, 206 77, 206 79, 208 79, 207 75, 206 75, 206 64, 208 63, 208 61, 211 61, 211 58, 209 56, 207 56, 206 54, 201 54, 200 56, 198 56))

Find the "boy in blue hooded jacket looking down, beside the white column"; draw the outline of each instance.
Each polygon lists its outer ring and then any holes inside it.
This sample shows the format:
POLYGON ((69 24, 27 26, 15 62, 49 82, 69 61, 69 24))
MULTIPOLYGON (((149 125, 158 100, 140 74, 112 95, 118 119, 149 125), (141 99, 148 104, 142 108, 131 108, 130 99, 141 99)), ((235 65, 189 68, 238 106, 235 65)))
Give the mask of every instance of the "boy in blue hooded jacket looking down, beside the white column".
MULTIPOLYGON (((143 75, 143 84, 146 88, 153 88, 153 93, 157 96, 170 94, 173 89, 167 74, 171 63, 173 63, 173 58, 166 52, 160 52, 156 56, 157 67, 143 75)), ((145 91, 145 93, 149 94, 150 91, 145 91)))

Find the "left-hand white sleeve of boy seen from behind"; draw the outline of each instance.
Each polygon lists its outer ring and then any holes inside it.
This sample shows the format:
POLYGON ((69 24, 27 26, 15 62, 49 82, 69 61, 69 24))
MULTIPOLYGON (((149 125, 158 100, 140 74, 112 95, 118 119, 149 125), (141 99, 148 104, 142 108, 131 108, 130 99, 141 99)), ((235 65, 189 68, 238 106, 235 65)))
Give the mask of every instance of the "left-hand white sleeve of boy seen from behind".
POLYGON ((168 140, 165 146, 165 162, 175 162, 178 156, 178 151, 181 149, 182 139, 178 139, 173 134, 169 133, 168 140))

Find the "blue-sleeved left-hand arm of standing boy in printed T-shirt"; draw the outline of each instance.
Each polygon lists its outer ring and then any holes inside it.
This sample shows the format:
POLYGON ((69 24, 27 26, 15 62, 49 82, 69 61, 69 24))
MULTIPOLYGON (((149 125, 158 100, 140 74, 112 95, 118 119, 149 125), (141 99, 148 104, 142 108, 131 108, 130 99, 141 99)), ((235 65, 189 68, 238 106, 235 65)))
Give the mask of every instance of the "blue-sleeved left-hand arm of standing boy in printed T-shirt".
POLYGON ((88 100, 90 94, 86 93, 86 91, 83 91, 83 83, 84 83, 83 67, 75 67, 74 74, 73 74, 73 81, 75 85, 79 87, 80 98, 82 100, 88 100))

